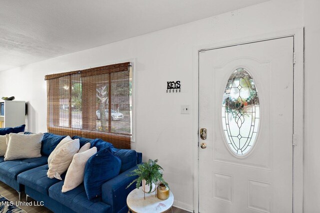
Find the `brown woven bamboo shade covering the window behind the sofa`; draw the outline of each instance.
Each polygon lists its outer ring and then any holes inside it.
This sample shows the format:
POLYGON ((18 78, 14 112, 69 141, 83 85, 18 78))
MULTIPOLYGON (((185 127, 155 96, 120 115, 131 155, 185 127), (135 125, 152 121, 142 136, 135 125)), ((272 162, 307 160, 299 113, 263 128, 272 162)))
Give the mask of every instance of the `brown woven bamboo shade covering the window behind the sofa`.
POLYGON ((131 76, 129 62, 46 75, 48 132, 130 149, 131 76))

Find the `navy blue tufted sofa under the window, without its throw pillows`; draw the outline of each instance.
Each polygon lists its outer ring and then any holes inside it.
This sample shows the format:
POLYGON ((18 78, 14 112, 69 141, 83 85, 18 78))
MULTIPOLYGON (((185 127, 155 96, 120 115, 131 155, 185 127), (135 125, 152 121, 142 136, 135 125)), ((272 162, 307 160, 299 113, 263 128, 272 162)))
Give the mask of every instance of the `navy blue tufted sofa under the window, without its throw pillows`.
POLYGON ((42 156, 39 158, 4 162, 3 157, 0 157, 0 181, 15 189, 19 195, 24 191, 27 197, 38 202, 43 201, 43 205, 54 213, 127 213, 126 197, 135 185, 125 188, 136 178, 129 177, 128 174, 141 163, 142 153, 113 148, 112 144, 101 139, 72 137, 72 139, 79 139, 80 147, 85 143, 90 143, 91 147, 97 147, 98 151, 109 147, 121 160, 120 174, 102 184, 101 198, 93 202, 88 200, 83 183, 71 191, 61 192, 65 173, 61 176, 62 181, 49 179, 46 176, 47 158, 64 137, 44 133, 42 156))

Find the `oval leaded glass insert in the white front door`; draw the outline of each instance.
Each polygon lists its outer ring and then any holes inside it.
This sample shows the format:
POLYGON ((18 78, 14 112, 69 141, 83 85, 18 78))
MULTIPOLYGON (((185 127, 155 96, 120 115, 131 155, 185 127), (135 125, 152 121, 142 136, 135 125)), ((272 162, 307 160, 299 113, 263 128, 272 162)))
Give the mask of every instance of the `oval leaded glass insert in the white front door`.
POLYGON ((228 148, 237 156, 253 147, 259 124, 259 98, 251 75, 238 68, 229 77, 222 100, 222 126, 228 148))

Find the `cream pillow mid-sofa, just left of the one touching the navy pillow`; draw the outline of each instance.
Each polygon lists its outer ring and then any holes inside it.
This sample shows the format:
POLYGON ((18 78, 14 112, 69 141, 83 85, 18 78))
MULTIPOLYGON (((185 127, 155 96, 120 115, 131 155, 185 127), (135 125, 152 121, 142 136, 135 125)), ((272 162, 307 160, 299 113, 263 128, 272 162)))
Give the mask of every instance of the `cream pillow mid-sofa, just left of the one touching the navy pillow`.
POLYGON ((46 173, 48 178, 62 180, 60 175, 68 169, 73 155, 79 151, 79 147, 79 139, 74 139, 61 145, 52 156, 49 170, 46 173))

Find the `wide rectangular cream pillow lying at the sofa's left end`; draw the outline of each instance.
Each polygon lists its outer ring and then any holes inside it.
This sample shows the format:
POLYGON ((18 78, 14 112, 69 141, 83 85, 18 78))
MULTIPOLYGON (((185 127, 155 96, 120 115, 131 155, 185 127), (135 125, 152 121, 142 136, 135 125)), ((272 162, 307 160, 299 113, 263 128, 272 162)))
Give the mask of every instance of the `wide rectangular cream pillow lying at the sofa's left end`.
POLYGON ((41 141, 43 133, 23 135, 9 134, 4 161, 41 157, 41 141))

